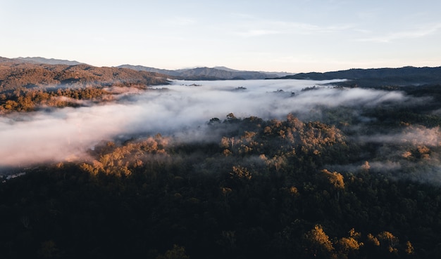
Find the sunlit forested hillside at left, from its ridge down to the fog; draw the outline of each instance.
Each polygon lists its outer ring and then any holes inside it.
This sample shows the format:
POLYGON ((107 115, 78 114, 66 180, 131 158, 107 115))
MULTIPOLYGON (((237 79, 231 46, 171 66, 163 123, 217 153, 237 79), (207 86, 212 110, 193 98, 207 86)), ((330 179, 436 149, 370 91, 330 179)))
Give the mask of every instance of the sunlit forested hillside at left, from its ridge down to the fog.
POLYGON ((35 107, 79 106, 78 101, 111 100, 127 88, 168 84, 151 72, 90 65, 47 65, 26 60, 0 60, 0 114, 35 107), (112 89, 118 87, 120 90, 112 89))

